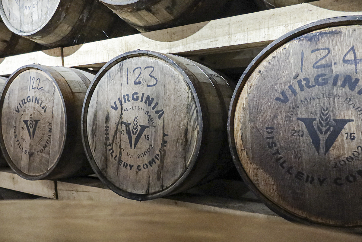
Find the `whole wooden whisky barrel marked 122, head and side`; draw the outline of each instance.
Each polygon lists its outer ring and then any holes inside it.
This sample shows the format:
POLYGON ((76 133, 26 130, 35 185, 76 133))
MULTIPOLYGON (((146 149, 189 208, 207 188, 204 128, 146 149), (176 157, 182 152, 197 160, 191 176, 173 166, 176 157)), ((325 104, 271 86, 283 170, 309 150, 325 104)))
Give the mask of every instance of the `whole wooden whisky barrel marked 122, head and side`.
POLYGON ((38 64, 20 67, 0 100, 0 145, 9 166, 28 180, 91 171, 81 141, 81 109, 94 75, 38 64))

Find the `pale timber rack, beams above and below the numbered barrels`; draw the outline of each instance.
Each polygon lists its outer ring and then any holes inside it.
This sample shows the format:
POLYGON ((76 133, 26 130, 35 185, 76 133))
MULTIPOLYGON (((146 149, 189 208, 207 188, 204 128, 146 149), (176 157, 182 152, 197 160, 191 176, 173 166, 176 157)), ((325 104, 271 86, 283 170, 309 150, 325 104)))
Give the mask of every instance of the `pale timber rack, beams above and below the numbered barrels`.
MULTIPOLYGON (((346 15, 362 15, 362 0, 321 0, 155 32, 1 58, 0 75, 9 76, 17 68, 32 63, 99 70, 117 55, 137 49, 181 55, 220 71, 241 68, 246 67, 265 46, 283 34, 317 20, 346 15)), ((191 189, 188 193, 146 203, 276 216, 250 192, 246 192, 247 188, 241 181, 216 180, 205 186, 191 189), (209 189, 207 186, 214 189, 209 189), (216 194, 215 191, 224 192, 216 194)), ((0 187, 51 199, 115 200, 136 203, 113 193, 94 177, 28 181, 14 174, 9 168, 1 168, 0 187)))

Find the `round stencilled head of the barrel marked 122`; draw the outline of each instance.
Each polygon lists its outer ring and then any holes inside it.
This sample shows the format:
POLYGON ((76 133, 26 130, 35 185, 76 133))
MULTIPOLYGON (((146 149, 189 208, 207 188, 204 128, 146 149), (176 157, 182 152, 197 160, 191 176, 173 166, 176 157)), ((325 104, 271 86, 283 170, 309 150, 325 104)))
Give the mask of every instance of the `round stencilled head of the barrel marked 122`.
POLYGON ((54 169, 66 138, 66 109, 54 78, 37 68, 10 76, 1 99, 2 148, 9 165, 27 179, 54 169))

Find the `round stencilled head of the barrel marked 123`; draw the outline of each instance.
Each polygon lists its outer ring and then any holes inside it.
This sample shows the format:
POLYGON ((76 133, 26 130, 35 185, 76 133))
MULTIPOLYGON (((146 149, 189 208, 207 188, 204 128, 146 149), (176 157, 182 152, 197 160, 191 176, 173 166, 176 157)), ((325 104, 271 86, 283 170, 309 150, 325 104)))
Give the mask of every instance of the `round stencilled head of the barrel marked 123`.
POLYGON ((83 109, 90 163, 119 195, 152 199, 190 172, 201 142, 200 106, 190 79, 165 56, 134 51, 113 59, 83 109))

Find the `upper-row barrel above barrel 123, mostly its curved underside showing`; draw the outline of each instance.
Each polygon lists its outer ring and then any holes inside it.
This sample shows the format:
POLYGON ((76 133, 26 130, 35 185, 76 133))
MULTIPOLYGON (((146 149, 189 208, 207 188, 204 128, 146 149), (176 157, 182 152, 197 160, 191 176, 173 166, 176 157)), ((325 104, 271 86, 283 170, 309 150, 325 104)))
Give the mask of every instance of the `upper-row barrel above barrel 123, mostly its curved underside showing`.
POLYGON ((141 32, 211 20, 230 0, 101 0, 141 32))

